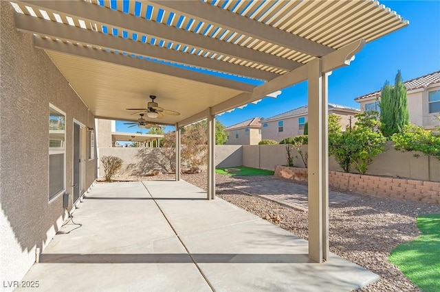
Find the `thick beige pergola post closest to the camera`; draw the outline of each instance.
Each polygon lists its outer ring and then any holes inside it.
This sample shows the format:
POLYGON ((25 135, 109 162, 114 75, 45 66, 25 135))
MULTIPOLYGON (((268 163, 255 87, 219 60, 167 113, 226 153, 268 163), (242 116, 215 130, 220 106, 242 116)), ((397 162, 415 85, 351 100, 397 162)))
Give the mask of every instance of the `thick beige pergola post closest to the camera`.
POLYGON ((327 259, 328 235, 328 139, 327 139, 327 74, 322 60, 308 64, 309 91, 309 258, 317 263, 327 259))

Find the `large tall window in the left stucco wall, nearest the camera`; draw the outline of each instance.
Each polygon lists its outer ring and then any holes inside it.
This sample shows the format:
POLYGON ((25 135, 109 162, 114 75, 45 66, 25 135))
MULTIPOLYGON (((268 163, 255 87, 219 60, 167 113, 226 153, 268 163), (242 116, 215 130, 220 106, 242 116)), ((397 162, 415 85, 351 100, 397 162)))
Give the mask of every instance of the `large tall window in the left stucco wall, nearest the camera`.
POLYGON ((65 191, 65 113, 49 106, 49 201, 65 191))

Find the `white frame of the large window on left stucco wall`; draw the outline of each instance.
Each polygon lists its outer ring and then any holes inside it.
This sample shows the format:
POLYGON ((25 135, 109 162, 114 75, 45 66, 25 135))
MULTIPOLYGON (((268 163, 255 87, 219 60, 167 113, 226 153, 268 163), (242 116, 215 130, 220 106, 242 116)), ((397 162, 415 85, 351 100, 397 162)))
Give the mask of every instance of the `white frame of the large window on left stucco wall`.
MULTIPOLYGON (((53 104, 49 104, 49 125, 48 125, 48 134, 49 138, 47 139, 47 198, 48 198, 48 204, 54 202, 61 194, 65 193, 66 191, 66 121, 67 121, 67 115, 63 110, 60 110, 60 108, 54 106, 53 104), (64 117, 64 130, 50 130, 50 117, 51 117, 51 111, 57 112, 57 114, 61 114, 64 117), (64 140, 61 143, 61 147, 50 147, 50 141, 51 141, 51 131, 52 134, 64 134, 64 140), (57 131, 57 132, 54 132, 57 131), (62 131, 62 132, 61 132, 62 131), (50 193, 50 158, 52 155, 59 155, 63 154, 63 187, 60 191, 57 191, 54 194, 50 193)), ((53 139, 52 140, 56 140, 53 139)))

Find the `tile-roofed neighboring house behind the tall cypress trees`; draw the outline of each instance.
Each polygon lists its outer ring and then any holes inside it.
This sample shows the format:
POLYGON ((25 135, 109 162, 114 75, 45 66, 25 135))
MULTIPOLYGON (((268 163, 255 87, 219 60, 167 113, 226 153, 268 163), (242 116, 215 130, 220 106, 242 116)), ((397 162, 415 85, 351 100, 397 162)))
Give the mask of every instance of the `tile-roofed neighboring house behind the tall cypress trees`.
MULTIPOLYGON (((434 130, 440 121, 440 71, 404 82, 408 98, 408 114, 410 122, 434 130)), ((380 111, 380 90, 362 97, 356 97, 362 112, 366 110, 380 111)))

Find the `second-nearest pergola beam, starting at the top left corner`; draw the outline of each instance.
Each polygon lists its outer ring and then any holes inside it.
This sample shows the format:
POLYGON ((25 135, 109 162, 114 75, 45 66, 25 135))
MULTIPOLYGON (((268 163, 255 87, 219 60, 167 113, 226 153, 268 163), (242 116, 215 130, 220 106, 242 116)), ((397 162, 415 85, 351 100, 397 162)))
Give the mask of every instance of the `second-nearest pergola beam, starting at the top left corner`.
POLYGON ((131 14, 124 14, 118 10, 103 8, 100 5, 89 3, 87 1, 20 1, 28 5, 36 6, 43 10, 52 10, 52 12, 63 13, 78 17, 91 23, 102 23, 109 27, 123 29, 130 34, 146 35, 148 38, 154 37, 170 42, 176 42, 180 45, 198 47, 212 53, 219 53, 232 58, 247 60, 272 66, 284 70, 295 69, 302 64, 293 60, 281 58, 272 54, 263 53, 248 47, 234 45, 230 42, 217 40, 216 38, 207 38, 201 34, 188 32, 184 29, 178 29, 163 23, 149 21, 142 17, 131 14))

